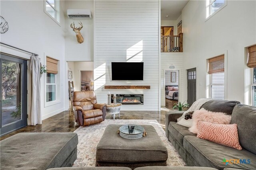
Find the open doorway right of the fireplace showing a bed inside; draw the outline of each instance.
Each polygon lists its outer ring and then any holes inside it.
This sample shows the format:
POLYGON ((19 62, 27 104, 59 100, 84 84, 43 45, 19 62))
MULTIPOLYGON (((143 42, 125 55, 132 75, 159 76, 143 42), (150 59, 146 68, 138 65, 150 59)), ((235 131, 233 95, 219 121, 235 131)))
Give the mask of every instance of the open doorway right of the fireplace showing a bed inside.
POLYGON ((164 80, 165 107, 172 109, 179 99, 179 71, 165 70, 164 80))

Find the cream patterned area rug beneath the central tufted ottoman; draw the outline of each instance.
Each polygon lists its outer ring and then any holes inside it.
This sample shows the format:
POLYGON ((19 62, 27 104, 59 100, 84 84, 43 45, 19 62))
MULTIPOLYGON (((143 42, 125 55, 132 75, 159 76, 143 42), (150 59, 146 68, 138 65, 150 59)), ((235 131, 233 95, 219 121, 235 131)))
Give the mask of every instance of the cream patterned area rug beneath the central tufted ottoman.
POLYGON ((77 159, 74 162, 78 166, 95 166, 96 147, 102 137, 107 125, 110 124, 138 124, 152 125, 168 150, 167 166, 186 166, 178 152, 165 136, 165 131, 156 120, 126 120, 126 119, 105 119, 105 121, 86 127, 79 127, 74 132, 78 134, 77 159))

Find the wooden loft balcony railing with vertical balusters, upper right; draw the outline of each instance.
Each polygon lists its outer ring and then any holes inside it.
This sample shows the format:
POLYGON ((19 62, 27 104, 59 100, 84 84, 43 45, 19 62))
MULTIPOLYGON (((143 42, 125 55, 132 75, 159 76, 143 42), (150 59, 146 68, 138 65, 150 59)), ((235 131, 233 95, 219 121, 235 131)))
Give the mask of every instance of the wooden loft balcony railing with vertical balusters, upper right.
POLYGON ((183 33, 179 35, 162 35, 161 36, 161 52, 175 53, 183 52, 183 33))

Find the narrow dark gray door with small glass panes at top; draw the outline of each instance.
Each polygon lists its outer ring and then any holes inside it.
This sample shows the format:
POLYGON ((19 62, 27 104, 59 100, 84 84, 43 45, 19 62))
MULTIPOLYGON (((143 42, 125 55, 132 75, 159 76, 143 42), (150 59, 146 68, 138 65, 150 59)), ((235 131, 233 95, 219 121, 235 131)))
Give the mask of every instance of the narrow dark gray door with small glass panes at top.
POLYGON ((188 104, 191 106, 196 101, 196 68, 187 71, 188 104))

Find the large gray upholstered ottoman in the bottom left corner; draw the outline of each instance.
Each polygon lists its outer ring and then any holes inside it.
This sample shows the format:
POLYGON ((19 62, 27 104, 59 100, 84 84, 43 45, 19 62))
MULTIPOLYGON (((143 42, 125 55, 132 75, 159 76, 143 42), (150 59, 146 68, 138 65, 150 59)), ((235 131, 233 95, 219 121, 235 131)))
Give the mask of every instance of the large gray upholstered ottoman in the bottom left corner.
POLYGON ((0 142, 0 169, 46 170, 72 166, 76 133, 19 133, 0 142))

